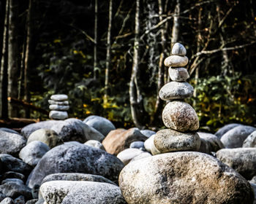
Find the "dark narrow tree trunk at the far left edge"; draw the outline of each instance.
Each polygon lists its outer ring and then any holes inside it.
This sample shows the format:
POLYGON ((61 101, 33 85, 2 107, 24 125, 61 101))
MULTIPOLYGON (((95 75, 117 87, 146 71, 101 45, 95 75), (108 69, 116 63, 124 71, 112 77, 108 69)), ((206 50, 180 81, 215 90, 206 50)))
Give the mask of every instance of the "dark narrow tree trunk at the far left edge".
POLYGON ((8 119, 8 39, 9 39, 9 15, 10 15, 10 0, 6 1, 6 12, 4 20, 4 36, 3 36, 3 49, 1 58, 1 118, 8 119))

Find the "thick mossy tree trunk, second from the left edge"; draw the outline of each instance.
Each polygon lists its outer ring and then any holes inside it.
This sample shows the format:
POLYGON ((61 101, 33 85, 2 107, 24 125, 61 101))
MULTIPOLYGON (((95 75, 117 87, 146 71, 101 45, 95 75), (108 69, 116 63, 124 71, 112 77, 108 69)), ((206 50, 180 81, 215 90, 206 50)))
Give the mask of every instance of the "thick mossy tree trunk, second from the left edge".
MULTIPOLYGON (((10 24, 8 45, 8 97, 18 98, 19 50, 18 50, 18 0, 10 0, 10 24)), ((9 106, 10 117, 18 117, 17 106, 9 106)))

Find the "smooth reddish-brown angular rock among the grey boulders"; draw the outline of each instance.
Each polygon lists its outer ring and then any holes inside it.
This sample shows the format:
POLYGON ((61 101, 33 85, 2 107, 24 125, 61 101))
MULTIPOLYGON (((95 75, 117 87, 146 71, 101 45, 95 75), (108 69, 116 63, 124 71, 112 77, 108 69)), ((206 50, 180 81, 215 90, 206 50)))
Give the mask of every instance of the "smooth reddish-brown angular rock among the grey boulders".
POLYGON ((108 133, 108 136, 102 141, 106 151, 110 154, 117 155, 124 149, 129 148, 133 141, 146 141, 147 137, 140 133, 136 127, 129 130, 117 129, 108 133))

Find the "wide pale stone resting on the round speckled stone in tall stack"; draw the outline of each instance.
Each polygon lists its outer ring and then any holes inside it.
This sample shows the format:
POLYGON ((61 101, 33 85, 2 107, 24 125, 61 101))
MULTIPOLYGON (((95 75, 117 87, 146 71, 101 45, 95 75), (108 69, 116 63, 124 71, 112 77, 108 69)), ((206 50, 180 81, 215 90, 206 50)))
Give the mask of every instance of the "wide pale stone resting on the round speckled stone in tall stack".
POLYGON ((194 88, 188 82, 169 82, 159 91, 159 97, 168 101, 173 99, 190 98, 193 95, 194 88))

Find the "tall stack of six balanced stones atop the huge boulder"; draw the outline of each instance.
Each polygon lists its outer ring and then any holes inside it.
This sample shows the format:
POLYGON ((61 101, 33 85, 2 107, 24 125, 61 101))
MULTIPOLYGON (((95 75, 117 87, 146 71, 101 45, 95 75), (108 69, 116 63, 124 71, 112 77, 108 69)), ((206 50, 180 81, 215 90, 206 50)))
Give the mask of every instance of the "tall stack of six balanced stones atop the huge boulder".
POLYGON ((197 151, 200 148, 200 137, 195 132, 199 128, 199 120, 195 110, 185 98, 193 95, 194 89, 188 82, 188 58, 186 48, 176 43, 172 55, 165 59, 172 82, 164 85, 159 97, 170 101, 162 111, 162 120, 169 129, 159 130, 154 137, 154 145, 160 153, 178 151, 197 151))

